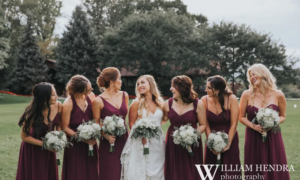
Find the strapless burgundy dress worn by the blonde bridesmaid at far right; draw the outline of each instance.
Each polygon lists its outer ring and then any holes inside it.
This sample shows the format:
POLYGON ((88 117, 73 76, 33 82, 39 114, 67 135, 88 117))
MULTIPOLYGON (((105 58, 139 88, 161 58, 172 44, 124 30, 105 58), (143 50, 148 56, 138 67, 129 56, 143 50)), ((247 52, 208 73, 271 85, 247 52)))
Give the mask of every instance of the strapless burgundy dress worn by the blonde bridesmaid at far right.
MULTIPOLYGON (((270 104, 268 107, 271 107, 273 110, 279 111, 278 106, 274 104, 270 104)), ((258 112, 258 108, 254 106, 251 107, 249 105, 246 112, 247 119, 249 121, 252 121, 256 116, 255 112, 258 112)), ((274 134, 272 130, 267 131, 267 138, 264 143, 262 142, 262 134, 246 127, 244 163, 248 167, 252 165, 252 171, 245 171, 245 176, 257 176, 257 174, 259 174, 260 176, 265 176, 264 180, 290 179, 289 171, 263 171, 263 165, 281 165, 282 167, 283 165, 287 166, 286 154, 281 133, 274 134), (256 165, 258 165, 259 168, 260 165, 262 165, 262 171, 260 171, 260 169, 256 169, 256 165)))

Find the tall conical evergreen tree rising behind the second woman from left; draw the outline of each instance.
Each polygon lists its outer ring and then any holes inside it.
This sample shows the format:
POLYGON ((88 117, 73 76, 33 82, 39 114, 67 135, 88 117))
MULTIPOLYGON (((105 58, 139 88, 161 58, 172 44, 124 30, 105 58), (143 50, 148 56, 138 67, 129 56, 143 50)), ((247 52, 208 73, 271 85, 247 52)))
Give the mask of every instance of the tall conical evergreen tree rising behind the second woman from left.
POLYGON ((57 47, 56 78, 66 84, 73 75, 82 74, 94 85, 99 62, 95 55, 97 38, 80 6, 75 8, 66 28, 57 47))

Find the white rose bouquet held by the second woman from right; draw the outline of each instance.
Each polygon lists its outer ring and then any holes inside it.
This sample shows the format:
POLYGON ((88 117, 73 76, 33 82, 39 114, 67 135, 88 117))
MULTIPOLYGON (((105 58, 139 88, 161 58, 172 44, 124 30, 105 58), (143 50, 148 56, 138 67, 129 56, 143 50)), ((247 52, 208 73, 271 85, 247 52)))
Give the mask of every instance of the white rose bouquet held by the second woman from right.
MULTIPOLYGON (((211 134, 208 135, 204 141, 208 149, 214 149, 216 152, 221 152, 230 142, 228 134, 224 131, 211 131, 211 134)), ((221 165, 221 154, 217 155, 217 164, 221 165)), ((220 166, 218 167, 220 168, 220 166)))

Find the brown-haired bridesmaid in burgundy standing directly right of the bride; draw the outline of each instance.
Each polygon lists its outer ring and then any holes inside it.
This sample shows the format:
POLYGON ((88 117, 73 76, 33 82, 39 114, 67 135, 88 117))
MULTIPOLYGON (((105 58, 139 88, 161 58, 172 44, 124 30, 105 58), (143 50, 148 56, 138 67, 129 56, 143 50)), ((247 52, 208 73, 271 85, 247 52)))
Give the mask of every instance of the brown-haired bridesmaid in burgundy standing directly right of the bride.
POLYGON ((191 157, 187 149, 174 144, 172 132, 175 131, 175 126, 180 127, 190 123, 193 128, 198 128, 198 131, 202 134, 206 128, 205 106, 197 98, 198 95, 193 90, 192 80, 187 76, 176 76, 173 78, 170 91, 173 92, 173 98, 167 100, 163 107, 168 113, 167 116, 171 122, 166 137, 165 179, 201 180, 195 166, 195 164, 203 164, 201 138, 198 140, 199 147, 191 147, 194 153, 194 156, 191 157), (198 122, 199 127, 197 126, 198 122))

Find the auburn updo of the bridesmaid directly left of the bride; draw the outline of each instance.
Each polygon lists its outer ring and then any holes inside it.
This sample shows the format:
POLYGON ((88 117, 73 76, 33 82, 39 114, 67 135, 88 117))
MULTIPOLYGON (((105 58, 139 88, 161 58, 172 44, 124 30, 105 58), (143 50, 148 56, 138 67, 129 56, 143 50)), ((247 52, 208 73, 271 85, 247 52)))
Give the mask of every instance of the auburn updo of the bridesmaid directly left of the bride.
POLYGON ((116 67, 107 67, 103 69, 100 76, 97 78, 97 84, 100 91, 103 92, 105 88, 110 87, 110 81, 115 82, 119 73, 120 71, 116 67))

